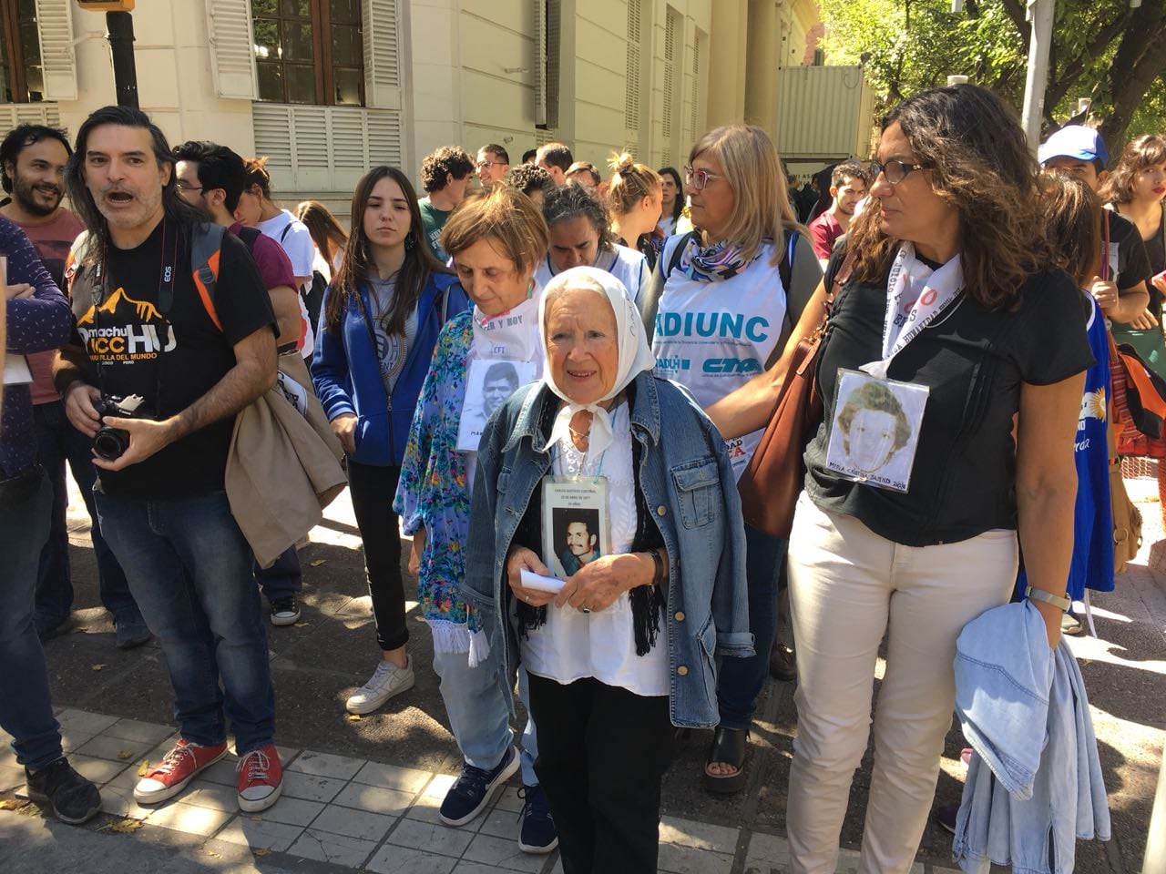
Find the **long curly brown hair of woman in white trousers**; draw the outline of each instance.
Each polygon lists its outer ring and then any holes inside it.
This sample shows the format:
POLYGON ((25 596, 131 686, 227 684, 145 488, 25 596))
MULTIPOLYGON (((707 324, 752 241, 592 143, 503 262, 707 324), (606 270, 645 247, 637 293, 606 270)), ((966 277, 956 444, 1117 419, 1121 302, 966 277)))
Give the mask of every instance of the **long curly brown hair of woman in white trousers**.
MULTIPOLYGON (((1012 110, 977 85, 929 89, 908 97, 884 119, 898 122, 932 189, 960 217, 960 256, 968 296, 989 310, 1010 309, 1020 286, 1048 265, 1038 211, 1037 162, 1012 110)), ((871 179, 874 184, 874 179, 871 179)), ((877 206, 850 225, 854 277, 886 276, 902 240, 879 227, 877 206)))

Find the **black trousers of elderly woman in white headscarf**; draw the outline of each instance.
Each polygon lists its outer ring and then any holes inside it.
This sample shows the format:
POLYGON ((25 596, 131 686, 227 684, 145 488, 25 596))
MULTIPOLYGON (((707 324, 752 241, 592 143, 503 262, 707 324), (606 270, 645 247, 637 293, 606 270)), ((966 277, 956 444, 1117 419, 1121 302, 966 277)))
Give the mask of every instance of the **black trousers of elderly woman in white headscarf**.
POLYGON ((654 874, 660 781, 672 757, 667 696, 531 675, 534 771, 559 830, 563 874, 654 874))

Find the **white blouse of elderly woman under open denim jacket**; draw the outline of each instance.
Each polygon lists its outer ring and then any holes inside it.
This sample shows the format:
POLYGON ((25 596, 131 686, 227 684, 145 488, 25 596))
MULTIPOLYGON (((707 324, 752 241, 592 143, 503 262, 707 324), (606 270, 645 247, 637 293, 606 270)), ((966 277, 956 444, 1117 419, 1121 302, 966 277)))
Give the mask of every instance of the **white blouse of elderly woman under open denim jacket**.
MULTIPOLYGON (((614 440, 597 459, 586 459, 585 473, 607 478, 607 519, 611 526, 612 555, 627 552, 635 537, 635 477, 632 472, 632 432, 627 404, 621 403, 611 417, 614 440)), ((577 470, 583 454, 563 439, 554 446, 554 470, 577 470), (563 456, 569 457, 563 465, 563 456)), ((557 683, 574 683, 595 677, 609 686, 620 686, 635 695, 668 695, 668 636, 661 628, 655 646, 635 655, 635 629, 627 592, 606 609, 583 613, 570 605, 547 606, 547 621, 531 628, 521 641, 522 663, 539 677, 557 683)))

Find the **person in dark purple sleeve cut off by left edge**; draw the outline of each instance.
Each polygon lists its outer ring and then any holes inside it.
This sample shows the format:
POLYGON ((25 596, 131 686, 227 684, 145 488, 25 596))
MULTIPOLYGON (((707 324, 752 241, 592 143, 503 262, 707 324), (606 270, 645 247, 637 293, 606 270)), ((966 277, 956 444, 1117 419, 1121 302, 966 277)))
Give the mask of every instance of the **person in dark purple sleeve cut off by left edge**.
POLYGON ((97 815, 101 797, 62 754, 44 650, 33 623, 52 487, 37 457, 31 373, 24 361, 28 353, 68 340, 69 304, 28 238, 6 218, 0 218, 0 252, 7 253, 0 259, 0 279, 8 323, 0 418, 0 726, 13 736, 29 797, 48 804, 62 822, 77 824, 97 815))

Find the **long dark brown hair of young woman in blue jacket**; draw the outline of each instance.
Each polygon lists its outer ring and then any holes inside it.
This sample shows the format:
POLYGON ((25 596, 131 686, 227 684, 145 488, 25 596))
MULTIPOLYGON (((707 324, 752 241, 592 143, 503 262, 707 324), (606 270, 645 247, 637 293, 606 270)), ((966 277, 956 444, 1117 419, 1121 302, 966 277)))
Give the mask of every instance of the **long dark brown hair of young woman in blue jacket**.
POLYGON ((331 294, 324 308, 324 327, 328 331, 339 331, 347 308, 353 302, 360 305, 360 288, 368 282, 373 273, 372 249, 364 230, 364 213, 368 206, 368 198, 372 197, 372 190, 384 178, 391 178, 400 185, 401 193, 409 204, 409 233, 405 238, 405 263, 396 274, 392 308, 381 317, 385 332, 401 333, 429 277, 435 273, 449 273, 445 265, 430 252, 429 244, 424 239, 417 195, 409 178, 395 167, 374 167, 360 177, 356 191, 352 192, 352 233, 349 234, 349 242, 344 247, 340 269, 332 277, 331 294))

